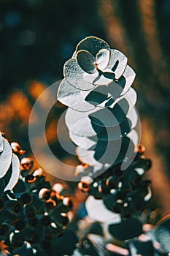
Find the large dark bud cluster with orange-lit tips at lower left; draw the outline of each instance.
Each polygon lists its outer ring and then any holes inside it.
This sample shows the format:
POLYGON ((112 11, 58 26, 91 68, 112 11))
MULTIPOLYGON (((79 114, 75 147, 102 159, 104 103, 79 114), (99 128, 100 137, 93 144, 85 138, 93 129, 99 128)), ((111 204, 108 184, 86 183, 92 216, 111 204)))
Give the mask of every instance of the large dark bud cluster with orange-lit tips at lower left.
MULTIPOLYGON (((25 153, 18 143, 11 146, 18 157, 25 153)), ((33 170, 31 158, 19 163, 17 184, 0 197, 0 241, 9 255, 53 255, 72 216, 68 189, 60 183, 51 186, 41 168, 33 170)))

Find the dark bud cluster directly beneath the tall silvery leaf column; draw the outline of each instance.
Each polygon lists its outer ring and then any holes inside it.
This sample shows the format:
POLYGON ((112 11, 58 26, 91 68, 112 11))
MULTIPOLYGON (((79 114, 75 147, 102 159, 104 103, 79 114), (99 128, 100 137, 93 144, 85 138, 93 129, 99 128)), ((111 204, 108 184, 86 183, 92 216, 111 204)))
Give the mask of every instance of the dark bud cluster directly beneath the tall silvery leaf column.
MULTIPOLYGON (((139 147, 144 148, 142 145, 139 147)), ((145 158, 139 149, 134 161, 126 170, 121 170, 120 165, 114 165, 96 178, 82 176, 77 186, 82 192, 88 192, 96 199, 103 199, 109 211, 121 214, 125 219, 136 211, 141 211, 144 203, 150 200, 150 181, 142 180, 145 171, 150 167, 150 159, 145 158)), ((77 169, 80 169, 80 166, 77 169)))

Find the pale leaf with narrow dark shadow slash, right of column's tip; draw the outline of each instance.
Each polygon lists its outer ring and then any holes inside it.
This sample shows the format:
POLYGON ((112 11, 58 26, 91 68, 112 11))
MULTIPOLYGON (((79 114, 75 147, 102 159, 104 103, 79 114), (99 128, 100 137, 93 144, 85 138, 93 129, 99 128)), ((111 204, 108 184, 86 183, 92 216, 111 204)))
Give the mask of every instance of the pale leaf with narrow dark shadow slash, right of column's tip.
POLYGON ((128 59, 119 50, 111 50, 108 69, 112 69, 115 73, 115 78, 118 79, 123 74, 127 65, 128 59))

